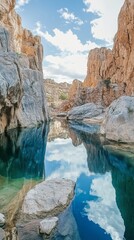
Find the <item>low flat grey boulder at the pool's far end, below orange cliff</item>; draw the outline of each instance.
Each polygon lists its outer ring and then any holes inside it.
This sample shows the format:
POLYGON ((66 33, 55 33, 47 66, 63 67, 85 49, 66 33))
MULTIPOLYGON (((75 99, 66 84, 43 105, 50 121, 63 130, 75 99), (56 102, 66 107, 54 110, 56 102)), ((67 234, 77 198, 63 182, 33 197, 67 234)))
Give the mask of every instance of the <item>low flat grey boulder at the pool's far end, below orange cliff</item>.
POLYGON ((86 103, 82 106, 72 108, 67 114, 67 119, 83 120, 84 118, 93 118, 102 114, 103 111, 104 109, 101 105, 86 103))

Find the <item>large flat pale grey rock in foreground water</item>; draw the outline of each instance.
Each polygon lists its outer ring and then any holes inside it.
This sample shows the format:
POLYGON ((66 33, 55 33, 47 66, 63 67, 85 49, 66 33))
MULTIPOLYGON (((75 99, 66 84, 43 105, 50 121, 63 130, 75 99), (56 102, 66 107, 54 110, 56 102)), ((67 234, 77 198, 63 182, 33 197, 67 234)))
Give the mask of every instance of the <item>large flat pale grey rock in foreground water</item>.
POLYGON ((75 183, 71 180, 44 181, 30 190, 22 206, 22 214, 34 217, 55 215, 63 211, 74 195, 75 183))

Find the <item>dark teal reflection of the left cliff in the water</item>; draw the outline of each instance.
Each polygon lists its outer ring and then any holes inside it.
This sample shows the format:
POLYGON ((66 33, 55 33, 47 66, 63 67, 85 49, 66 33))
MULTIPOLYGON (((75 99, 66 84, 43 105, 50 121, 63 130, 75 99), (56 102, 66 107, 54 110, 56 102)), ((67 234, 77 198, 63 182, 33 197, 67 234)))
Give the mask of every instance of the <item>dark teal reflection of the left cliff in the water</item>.
POLYGON ((11 179, 41 178, 47 127, 17 129, 0 135, 0 175, 11 179))

